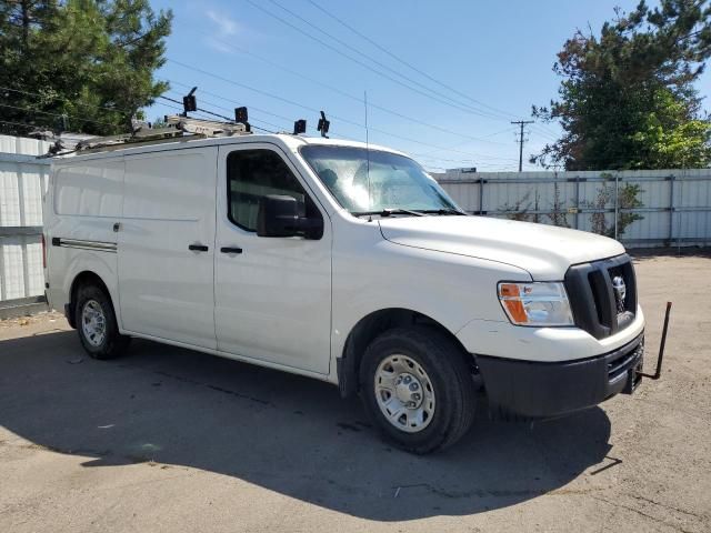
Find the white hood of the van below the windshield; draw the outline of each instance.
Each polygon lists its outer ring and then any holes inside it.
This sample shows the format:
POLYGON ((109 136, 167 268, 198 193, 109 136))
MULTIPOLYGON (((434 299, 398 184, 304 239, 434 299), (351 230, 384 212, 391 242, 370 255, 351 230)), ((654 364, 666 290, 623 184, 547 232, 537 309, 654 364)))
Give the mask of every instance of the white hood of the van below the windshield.
POLYGON ((585 231, 488 217, 381 219, 383 238, 405 247, 498 261, 534 280, 562 280, 571 264, 624 253, 618 241, 585 231))

